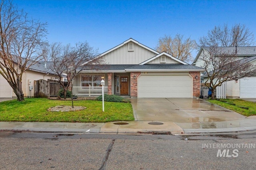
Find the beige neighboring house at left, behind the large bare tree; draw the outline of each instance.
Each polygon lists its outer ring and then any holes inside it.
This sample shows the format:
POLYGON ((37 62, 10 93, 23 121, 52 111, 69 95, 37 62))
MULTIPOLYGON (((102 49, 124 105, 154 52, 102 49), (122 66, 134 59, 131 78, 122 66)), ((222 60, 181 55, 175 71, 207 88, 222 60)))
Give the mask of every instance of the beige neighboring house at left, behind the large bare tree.
MULTIPOLYGON (((22 75, 22 91, 24 93, 24 97, 33 97, 34 96, 34 81, 40 79, 54 79, 55 75, 52 74, 50 69, 48 69, 51 65, 51 62, 40 61, 35 65, 32 65, 28 70, 26 70, 22 75), (31 87, 30 87, 31 86, 31 87)), ((63 76, 63 80, 64 81, 63 76)), ((4 79, 2 75, 0 75, 0 97, 1 98, 9 98, 16 97, 13 92, 12 87, 9 83, 4 79)))

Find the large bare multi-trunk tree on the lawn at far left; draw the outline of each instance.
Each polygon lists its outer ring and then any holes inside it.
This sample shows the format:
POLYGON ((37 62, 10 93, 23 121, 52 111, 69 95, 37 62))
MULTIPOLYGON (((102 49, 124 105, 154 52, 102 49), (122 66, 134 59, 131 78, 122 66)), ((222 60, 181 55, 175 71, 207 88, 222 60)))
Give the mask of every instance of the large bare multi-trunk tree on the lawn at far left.
POLYGON ((0 73, 8 81, 18 101, 24 100, 22 74, 41 59, 46 23, 28 19, 10 1, 0 4, 0 73))

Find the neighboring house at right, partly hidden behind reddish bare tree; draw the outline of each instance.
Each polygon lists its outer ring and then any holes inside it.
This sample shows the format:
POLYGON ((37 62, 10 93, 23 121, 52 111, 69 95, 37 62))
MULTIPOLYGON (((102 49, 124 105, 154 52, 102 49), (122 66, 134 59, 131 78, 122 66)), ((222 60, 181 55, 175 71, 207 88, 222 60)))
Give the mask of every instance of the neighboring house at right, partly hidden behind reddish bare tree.
MULTIPOLYGON (((256 65, 256 46, 250 47, 216 47, 223 53, 236 53, 236 59, 243 62, 250 62, 256 65)), ((207 55, 210 47, 201 47, 192 65, 203 67, 204 63, 200 60, 202 55, 207 55)), ((218 54, 216 54, 218 57, 218 54)), ((206 83, 208 76, 201 74, 201 83, 206 83)), ((256 76, 245 77, 244 79, 226 82, 226 97, 236 98, 256 98, 256 76)))

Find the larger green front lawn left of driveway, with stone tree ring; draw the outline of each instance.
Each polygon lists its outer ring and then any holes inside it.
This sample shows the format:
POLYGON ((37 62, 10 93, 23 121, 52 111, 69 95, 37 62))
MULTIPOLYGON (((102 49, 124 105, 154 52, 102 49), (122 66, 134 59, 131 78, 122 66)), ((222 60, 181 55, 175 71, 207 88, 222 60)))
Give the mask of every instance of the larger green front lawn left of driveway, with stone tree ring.
POLYGON ((51 112, 50 107, 69 105, 71 101, 50 100, 46 98, 27 98, 23 102, 16 100, 0 103, 0 121, 20 122, 112 122, 133 121, 132 105, 130 103, 104 102, 82 100, 74 101, 74 106, 84 106, 83 111, 51 112))

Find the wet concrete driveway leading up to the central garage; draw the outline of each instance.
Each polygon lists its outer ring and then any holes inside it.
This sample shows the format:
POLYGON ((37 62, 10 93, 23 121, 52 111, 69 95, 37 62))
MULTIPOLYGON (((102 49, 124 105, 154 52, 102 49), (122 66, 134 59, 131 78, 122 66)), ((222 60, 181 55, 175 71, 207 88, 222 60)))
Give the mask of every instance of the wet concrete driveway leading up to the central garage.
POLYGON ((245 116, 192 98, 142 98, 131 99, 138 121, 159 121, 174 123, 209 123, 234 121, 245 116))

